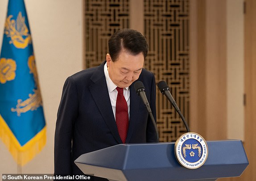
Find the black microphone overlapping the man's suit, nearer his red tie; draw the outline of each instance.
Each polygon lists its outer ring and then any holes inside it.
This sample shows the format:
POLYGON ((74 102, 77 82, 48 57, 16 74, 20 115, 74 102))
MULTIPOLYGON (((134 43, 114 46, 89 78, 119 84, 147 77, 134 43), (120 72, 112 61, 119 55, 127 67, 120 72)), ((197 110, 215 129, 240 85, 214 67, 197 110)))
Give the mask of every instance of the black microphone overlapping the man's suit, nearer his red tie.
POLYGON ((140 95, 140 98, 142 99, 143 103, 145 104, 145 107, 147 107, 147 110, 149 112, 149 116, 150 116, 151 121, 153 122, 153 125, 154 125, 154 128, 155 128, 155 132, 156 132, 156 135, 157 135, 157 143, 158 143, 159 142, 159 134, 158 134, 158 131, 157 131, 157 124, 156 124, 156 121, 155 121, 154 116, 152 114, 151 108, 149 106, 149 101, 147 99, 147 96, 145 94, 145 86, 143 85, 142 82, 137 81, 137 82, 134 83, 134 89, 135 89, 137 95, 140 95))

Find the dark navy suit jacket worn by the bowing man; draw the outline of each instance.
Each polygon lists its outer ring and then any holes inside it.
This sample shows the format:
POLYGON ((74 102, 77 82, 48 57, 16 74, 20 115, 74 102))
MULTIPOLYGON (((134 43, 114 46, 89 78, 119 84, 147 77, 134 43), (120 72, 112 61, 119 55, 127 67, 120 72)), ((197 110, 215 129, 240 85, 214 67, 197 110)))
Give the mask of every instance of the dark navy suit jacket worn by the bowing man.
MULTIPOLYGON (((78 156, 122 144, 107 90, 104 63, 66 79, 57 114, 54 174, 83 174, 74 164, 78 156)), ((138 81, 145 86, 156 120, 154 75, 143 69, 138 81)), ((153 123, 133 83, 130 86, 130 119, 126 143, 156 142, 153 123)))

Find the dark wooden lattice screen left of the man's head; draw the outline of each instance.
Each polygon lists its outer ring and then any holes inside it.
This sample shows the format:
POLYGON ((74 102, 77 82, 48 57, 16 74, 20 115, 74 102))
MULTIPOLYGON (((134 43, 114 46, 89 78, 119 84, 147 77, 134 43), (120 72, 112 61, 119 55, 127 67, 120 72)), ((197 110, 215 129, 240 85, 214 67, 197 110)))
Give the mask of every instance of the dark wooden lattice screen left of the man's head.
POLYGON ((106 59, 108 39, 129 28, 129 0, 85 0, 85 67, 106 59))

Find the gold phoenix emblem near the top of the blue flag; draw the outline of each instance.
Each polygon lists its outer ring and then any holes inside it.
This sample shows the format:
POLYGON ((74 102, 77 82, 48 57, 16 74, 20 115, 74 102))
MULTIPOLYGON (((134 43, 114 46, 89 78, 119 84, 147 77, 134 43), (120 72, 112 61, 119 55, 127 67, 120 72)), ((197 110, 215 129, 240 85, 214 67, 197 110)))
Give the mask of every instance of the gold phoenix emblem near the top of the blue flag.
POLYGON ((31 43, 31 35, 25 24, 25 17, 22 17, 21 12, 19 12, 16 22, 11 18, 12 15, 6 18, 4 33, 11 38, 10 44, 13 44, 18 49, 24 49, 31 43))

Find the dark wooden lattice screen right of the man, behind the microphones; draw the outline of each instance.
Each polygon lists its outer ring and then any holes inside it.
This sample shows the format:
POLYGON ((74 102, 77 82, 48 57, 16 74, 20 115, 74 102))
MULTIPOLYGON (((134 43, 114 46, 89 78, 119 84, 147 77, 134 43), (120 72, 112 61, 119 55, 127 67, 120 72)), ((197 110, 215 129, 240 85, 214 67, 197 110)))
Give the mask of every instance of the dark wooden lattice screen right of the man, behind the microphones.
MULTIPOLYGON (((145 68, 156 82, 165 80, 186 120, 189 118, 189 1, 144 0, 145 37, 149 56, 145 68)), ((160 141, 175 141, 186 132, 178 113, 157 91, 160 141)))

